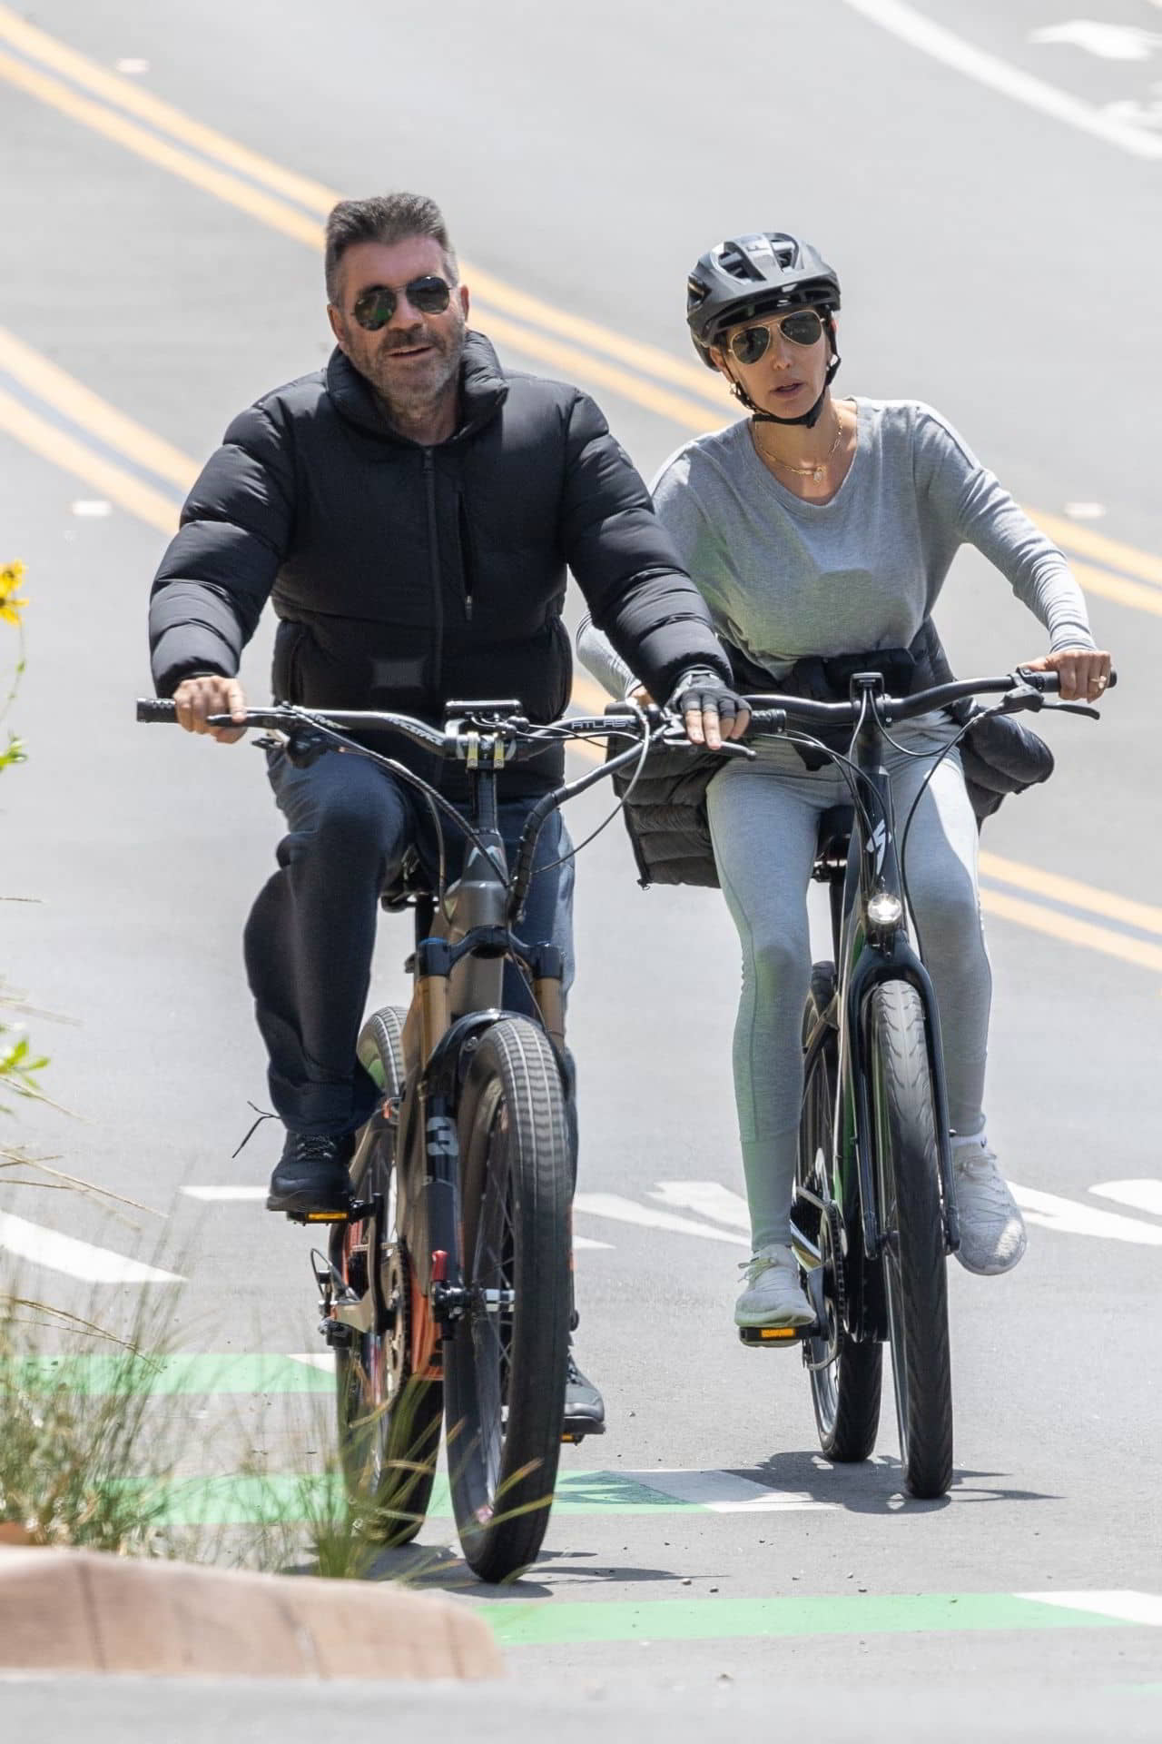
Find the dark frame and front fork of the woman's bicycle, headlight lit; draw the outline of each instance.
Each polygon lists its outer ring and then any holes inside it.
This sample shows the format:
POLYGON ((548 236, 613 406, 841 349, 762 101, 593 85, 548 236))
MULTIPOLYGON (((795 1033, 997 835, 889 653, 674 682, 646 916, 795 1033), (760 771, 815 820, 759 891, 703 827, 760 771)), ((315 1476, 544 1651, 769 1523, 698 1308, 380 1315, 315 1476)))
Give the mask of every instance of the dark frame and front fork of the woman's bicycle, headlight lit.
MULTIPOLYGON (((892 783, 883 766, 883 724, 876 701, 883 696, 880 673, 857 673, 850 684, 852 703, 862 703, 850 759, 859 769, 864 807, 855 806, 841 902, 833 902, 833 944, 838 977, 834 1027, 838 1031, 838 1087, 834 1111, 833 1193, 847 1228, 848 1331, 855 1338, 883 1338, 883 1291, 880 1282, 878 1186, 871 1144, 868 1010, 880 982, 906 980, 920 996, 925 1013, 929 1073, 936 1099, 936 1130, 944 1203, 944 1245, 960 1245, 956 1198, 951 1184, 948 1090, 936 994, 909 933, 904 886, 895 842, 892 783), (871 828, 869 828, 871 827, 871 828)), ((824 1045, 821 1022, 808 1041, 807 1067, 824 1045)))

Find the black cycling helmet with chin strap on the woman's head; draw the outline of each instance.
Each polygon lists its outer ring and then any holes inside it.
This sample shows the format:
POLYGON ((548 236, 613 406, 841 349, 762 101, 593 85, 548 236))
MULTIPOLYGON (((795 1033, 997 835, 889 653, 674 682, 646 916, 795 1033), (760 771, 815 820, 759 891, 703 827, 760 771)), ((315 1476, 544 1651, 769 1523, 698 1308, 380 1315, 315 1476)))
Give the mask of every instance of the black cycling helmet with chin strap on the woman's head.
MULTIPOLYGON (((686 323, 693 349, 707 370, 714 368, 711 345, 716 345, 726 328, 780 309, 800 309, 810 303, 824 312, 824 326, 831 342, 831 363, 824 392, 840 368, 834 349, 833 312, 840 307, 840 281, 822 255, 786 230, 760 230, 754 235, 726 237, 699 260, 686 279, 686 323)), ((779 419, 763 412, 746 394, 739 382, 735 396, 756 419, 770 424, 807 424, 822 412, 821 394, 810 412, 798 419, 779 419)))

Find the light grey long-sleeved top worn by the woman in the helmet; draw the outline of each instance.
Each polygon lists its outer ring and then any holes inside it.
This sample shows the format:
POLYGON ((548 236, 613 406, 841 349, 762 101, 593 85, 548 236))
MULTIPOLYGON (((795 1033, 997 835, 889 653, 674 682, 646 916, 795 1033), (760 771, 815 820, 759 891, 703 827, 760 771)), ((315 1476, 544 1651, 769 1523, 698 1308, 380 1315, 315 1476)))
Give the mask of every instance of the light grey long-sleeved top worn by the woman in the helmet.
MULTIPOLYGON (((714 628, 774 678, 796 659, 908 647, 953 556, 972 544, 1049 631, 1094 647, 1082 589, 1054 546, 930 406, 855 399, 857 446, 829 502, 803 502, 763 466, 749 419, 699 436, 653 501, 714 628)), ((613 694, 632 675, 589 621, 578 654, 613 694)))

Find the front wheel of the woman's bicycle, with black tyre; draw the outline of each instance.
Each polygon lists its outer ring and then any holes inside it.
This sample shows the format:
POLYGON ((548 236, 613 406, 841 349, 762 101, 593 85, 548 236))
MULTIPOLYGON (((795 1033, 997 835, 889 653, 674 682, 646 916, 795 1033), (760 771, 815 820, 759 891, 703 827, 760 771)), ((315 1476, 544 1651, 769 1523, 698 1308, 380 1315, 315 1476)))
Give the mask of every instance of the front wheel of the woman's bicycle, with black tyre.
POLYGON ((883 982, 873 991, 868 1039, 904 1488, 942 1496, 953 1481, 948 1273, 927 1025, 915 987, 883 982))

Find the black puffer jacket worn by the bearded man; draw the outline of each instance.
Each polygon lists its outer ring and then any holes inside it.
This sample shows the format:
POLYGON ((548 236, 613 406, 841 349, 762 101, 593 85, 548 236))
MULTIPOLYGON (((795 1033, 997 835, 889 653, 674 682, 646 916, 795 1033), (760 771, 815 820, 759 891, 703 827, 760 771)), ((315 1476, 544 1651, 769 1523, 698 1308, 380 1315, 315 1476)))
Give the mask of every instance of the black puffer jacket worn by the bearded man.
MULTIPOLYGON (((655 694, 695 663, 728 677, 706 605, 592 399, 505 375, 469 333, 460 427, 422 448, 336 351, 242 412, 190 492, 153 582, 153 680, 171 696, 192 673, 232 677, 274 598, 280 701, 439 722, 451 698, 512 696, 551 720, 571 685, 566 565, 655 694)), ((455 797, 455 771, 395 738, 378 746, 455 797)), ((557 750, 517 764, 503 792, 552 785, 559 769, 557 750)))

